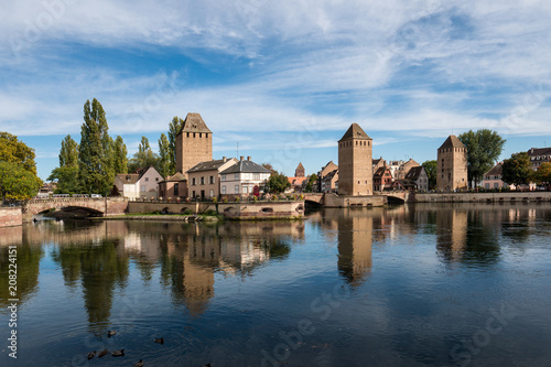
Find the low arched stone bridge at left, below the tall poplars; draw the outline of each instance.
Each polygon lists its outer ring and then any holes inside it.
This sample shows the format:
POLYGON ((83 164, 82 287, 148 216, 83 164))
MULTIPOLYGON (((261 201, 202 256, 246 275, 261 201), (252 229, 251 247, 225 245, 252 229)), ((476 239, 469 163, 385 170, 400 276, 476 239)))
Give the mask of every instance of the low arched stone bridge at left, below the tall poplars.
POLYGON ((22 207, 23 220, 30 222, 33 215, 50 209, 67 208, 82 208, 100 216, 120 215, 127 212, 128 199, 123 197, 33 198, 22 207))

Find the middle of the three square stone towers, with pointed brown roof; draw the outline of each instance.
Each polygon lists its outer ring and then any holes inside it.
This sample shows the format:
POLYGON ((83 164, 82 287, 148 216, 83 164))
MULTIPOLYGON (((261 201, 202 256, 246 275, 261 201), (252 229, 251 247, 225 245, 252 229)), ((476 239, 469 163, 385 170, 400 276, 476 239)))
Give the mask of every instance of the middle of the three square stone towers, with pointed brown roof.
POLYGON ((338 141, 338 194, 372 195, 372 139, 357 123, 338 141))

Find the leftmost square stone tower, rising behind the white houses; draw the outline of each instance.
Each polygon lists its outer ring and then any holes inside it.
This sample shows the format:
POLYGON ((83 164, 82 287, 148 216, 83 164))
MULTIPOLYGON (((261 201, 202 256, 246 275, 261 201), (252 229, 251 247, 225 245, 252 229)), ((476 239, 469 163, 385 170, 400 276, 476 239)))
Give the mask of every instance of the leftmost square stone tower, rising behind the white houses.
POLYGON ((197 163, 213 160, 213 132, 199 114, 187 114, 176 136, 176 171, 186 171, 197 163))

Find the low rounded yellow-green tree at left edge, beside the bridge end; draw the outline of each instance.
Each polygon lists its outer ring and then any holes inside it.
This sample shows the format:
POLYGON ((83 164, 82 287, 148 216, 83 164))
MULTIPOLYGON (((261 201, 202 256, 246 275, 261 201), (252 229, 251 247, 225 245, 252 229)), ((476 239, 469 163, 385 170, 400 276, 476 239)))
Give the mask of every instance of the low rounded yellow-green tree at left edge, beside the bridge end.
POLYGON ((0 195, 6 199, 29 199, 42 186, 41 180, 22 164, 0 161, 0 195))

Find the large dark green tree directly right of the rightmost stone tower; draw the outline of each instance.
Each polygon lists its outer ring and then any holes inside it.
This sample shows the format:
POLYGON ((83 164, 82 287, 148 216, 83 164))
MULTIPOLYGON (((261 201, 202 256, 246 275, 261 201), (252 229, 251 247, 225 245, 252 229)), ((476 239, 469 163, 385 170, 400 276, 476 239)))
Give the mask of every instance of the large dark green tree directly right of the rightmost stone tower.
POLYGON ((457 137, 467 148, 467 175, 469 184, 475 187, 484 174, 488 172, 501 155, 506 142, 496 131, 480 129, 468 130, 457 137))

